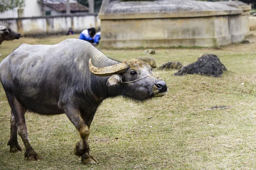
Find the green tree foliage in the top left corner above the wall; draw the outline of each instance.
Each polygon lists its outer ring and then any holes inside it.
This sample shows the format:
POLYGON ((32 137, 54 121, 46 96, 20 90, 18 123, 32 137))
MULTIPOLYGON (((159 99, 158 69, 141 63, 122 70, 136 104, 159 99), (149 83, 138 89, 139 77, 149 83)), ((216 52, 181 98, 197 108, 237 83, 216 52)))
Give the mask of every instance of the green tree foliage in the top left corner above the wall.
POLYGON ((0 12, 25 6, 25 0, 0 0, 0 12))

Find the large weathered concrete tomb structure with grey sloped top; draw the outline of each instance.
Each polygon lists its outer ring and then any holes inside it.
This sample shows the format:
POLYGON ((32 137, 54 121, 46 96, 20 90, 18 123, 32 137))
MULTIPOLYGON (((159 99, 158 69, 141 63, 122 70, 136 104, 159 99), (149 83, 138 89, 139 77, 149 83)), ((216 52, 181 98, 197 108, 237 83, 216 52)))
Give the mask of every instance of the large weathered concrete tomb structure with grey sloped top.
POLYGON ((210 47, 241 42, 248 32, 243 6, 195 0, 103 0, 101 47, 210 47))

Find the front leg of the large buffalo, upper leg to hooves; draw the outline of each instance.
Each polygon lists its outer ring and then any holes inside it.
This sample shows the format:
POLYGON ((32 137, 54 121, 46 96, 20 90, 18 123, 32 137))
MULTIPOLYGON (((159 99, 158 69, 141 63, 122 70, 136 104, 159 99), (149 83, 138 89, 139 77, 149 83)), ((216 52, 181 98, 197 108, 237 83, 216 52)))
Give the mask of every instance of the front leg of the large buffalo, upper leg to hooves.
POLYGON ((81 141, 76 144, 74 149, 76 156, 81 156, 81 161, 84 164, 98 163, 98 161, 89 154, 90 147, 88 144, 88 137, 90 134, 90 125, 88 126, 86 124, 78 108, 67 107, 66 114, 70 121, 75 125, 81 137, 81 141))

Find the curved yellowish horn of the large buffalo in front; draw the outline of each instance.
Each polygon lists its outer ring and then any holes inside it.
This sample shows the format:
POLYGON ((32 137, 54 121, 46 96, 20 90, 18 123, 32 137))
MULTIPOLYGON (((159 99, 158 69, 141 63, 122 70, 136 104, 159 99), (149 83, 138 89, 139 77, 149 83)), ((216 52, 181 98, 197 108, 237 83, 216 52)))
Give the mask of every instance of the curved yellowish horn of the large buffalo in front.
POLYGON ((125 63, 119 63, 108 67, 95 67, 93 66, 91 59, 89 59, 89 68, 92 74, 96 76, 112 76, 113 74, 122 74, 125 72, 127 65, 125 63))

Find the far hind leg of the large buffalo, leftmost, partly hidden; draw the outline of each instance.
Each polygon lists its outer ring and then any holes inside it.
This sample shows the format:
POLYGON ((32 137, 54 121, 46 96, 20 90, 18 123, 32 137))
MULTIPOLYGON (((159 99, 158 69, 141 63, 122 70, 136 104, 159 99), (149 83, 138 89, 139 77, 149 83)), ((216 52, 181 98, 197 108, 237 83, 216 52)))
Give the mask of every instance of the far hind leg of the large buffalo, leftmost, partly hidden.
POLYGON ((19 152, 19 151, 22 152, 22 149, 18 144, 18 140, 17 140, 17 126, 16 126, 15 118, 12 111, 11 111, 11 136, 7 145, 10 145, 10 152, 12 153, 19 152))

